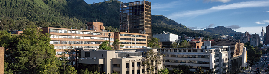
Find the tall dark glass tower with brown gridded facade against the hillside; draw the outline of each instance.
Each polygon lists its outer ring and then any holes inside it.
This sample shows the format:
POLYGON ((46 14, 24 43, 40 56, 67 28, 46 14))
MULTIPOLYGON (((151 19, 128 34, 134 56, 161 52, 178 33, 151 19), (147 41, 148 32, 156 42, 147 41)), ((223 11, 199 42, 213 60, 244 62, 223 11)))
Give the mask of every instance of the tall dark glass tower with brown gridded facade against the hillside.
POLYGON ((151 2, 121 3, 120 32, 144 33, 151 39, 151 2))

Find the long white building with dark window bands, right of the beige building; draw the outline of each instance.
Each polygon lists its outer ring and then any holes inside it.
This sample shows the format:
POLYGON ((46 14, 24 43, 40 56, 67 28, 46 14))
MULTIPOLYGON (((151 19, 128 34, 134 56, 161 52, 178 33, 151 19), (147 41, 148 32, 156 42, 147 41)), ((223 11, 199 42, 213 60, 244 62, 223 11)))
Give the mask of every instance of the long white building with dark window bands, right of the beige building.
POLYGON ((166 54, 164 65, 172 70, 179 64, 190 66, 191 71, 202 66, 203 70, 215 68, 215 74, 226 73, 230 69, 230 46, 211 46, 210 41, 204 42, 202 49, 158 49, 166 54), (223 70, 227 68, 227 70, 223 70))

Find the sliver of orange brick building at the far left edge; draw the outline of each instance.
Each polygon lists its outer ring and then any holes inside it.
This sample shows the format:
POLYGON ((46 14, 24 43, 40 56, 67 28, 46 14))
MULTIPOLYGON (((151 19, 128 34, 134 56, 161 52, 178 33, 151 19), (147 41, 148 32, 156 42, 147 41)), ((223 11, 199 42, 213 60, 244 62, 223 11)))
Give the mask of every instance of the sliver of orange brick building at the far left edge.
POLYGON ((5 47, 0 47, 0 74, 4 74, 5 47))

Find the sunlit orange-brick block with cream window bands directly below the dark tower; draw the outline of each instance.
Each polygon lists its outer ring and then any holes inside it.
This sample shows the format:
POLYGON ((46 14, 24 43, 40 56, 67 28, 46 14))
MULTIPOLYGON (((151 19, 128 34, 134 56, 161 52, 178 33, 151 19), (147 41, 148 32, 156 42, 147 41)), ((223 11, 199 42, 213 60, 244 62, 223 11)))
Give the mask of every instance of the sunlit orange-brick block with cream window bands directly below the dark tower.
POLYGON ((115 39, 120 40, 120 49, 137 49, 147 47, 147 34, 115 32, 115 39))

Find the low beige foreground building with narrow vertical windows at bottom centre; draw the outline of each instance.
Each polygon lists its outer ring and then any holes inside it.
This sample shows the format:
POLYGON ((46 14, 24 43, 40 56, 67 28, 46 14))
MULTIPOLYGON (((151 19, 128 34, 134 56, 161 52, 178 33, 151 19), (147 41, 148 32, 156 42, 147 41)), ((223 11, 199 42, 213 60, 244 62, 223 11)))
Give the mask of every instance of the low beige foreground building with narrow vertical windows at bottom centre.
MULTIPOLYGON (((77 48, 76 48, 77 49, 77 48)), ((153 49, 157 52, 156 49, 153 49)), ((89 71, 118 74, 149 74, 148 67, 142 63, 144 53, 147 49, 128 49, 128 50, 81 50, 79 60, 82 70, 88 68, 89 71)), ((161 61, 162 62, 162 61, 161 61)), ((158 65, 154 71, 157 73, 162 68, 162 64, 158 65)))

